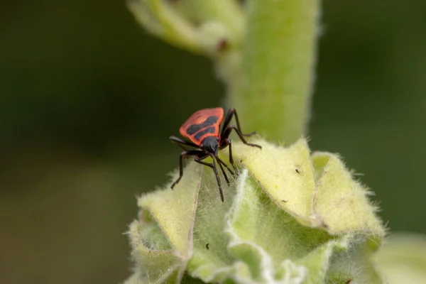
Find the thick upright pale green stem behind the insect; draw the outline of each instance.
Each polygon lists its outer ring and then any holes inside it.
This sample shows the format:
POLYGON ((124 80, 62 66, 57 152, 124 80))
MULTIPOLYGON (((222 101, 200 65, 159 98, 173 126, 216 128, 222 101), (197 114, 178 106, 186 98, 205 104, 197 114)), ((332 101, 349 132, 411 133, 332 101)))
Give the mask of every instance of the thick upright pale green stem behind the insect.
POLYGON ((251 0, 247 9, 241 65, 234 71, 239 78, 228 81, 229 104, 244 129, 293 143, 305 133, 310 110, 319 1, 251 0))

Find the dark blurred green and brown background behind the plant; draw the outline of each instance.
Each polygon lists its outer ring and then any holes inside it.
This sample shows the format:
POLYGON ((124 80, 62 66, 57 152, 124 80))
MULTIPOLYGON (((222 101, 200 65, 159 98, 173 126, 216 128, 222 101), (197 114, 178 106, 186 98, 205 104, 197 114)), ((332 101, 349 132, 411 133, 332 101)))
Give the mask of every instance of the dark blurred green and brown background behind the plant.
MULTIPOLYGON (((426 2, 327 0, 310 122, 391 231, 426 233, 426 2)), ((151 38, 124 1, 0 2, 0 283, 118 283, 135 196, 168 141, 224 102, 205 58, 151 38)), ((244 125, 244 121, 243 121, 244 125)))

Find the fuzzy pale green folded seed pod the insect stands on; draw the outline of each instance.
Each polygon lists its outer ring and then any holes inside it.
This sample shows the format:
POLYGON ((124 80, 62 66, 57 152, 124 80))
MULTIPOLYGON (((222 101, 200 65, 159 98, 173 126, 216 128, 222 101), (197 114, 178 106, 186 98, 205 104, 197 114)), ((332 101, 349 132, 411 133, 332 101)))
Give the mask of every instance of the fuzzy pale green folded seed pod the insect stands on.
POLYGON ((233 144, 241 174, 229 186, 222 180, 225 202, 213 171, 194 162, 175 190, 167 185, 138 200, 141 213, 130 228, 135 277, 179 283, 186 272, 192 278, 185 279, 204 283, 382 283, 371 255, 384 229, 339 158, 310 155, 304 139, 288 148, 254 142, 262 150, 233 144))

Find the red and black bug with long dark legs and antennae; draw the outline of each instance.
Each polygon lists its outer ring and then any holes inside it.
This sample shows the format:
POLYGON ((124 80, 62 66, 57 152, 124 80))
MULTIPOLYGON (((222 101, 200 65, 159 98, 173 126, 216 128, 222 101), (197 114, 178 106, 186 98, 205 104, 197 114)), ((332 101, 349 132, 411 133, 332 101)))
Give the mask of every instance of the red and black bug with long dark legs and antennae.
POLYGON ((217 107, 215 109, 201 109, 200 111, 196 111, 195 114, 192 114, 187 121, 185 121, 182 126, 180 126, 179 132, 185 138, 190 139, 190 141, 185 141, 176 136, 170 136, 170 141, 178 144, 180 148, 184 151, 180 153, 179 160, 179 178, 175 182, 173 182, 171 188, 180 181, 183 175, 183 165, 182 159, 188 156, 194 156, 194 160, 197 163, 202 165, 207 165, 214 170, 214 174, 216 175, 217 185, 219 185, 219 193, 222 202, 224 201, 224 194, 222 192, 222 185, 220 184, 219 173, 217 171, 217 164, 219 164, 222 173, 224 174, 224 178, 226 183, 229 185, 229 179, 226 176, 225 170, 222 167, 224 165, 226 169, 234 175, 234 171, 232 171, 223 160, 219 158, 217 155, 219 150, 226 148, 229 146, 229 163, 235 170, 235 173, 238 173, 238 170, 234 164, 234 159, 232 158, 232 148, 231 148, 231 139, 229 139, 229 134, 231 134, 232 129, 238 134, 241 141, 244 144, 262 148, 259 145, 251 144, 246 141, 244 136, 252 136, 256 132, 252 132, 249 134, 243 134, 241 132, 241 126, 239 124, 238 116, 236 115, 235 109, 229 109, 228 114, 226 114, 224 124, 222 126, 222 131, 220 131, 220 124, 224 118, 224 109, 221 107, 217 107), (229 125, 231 122, 232 116, 235 116, 236 126, 229 125), (197 148, 197 150, 188 150, 185 146, 197 148), (213 163, 204 162, 204 159, 207 157, 211 157, 213 163))

